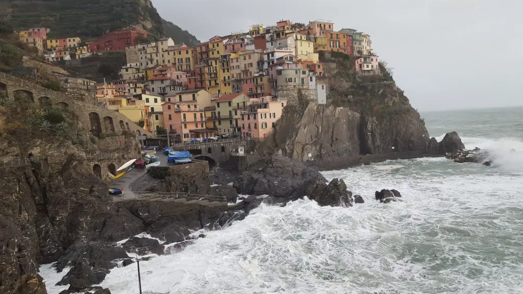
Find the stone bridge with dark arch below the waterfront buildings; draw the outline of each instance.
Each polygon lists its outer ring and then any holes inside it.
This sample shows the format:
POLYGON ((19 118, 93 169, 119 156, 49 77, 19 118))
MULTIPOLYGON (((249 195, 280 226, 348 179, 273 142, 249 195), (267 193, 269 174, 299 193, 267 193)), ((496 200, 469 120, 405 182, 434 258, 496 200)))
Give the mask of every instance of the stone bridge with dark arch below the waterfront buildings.
POLYGON ((206 160, 212 167, 229 161, 232 156, 231 149, 236 149, 240 145, 248 149, 252 143, 252 140, 246 138, 225 139, 198 143, 179 143, 171 146, 171 149, 189 151, 195 159, 206 160))

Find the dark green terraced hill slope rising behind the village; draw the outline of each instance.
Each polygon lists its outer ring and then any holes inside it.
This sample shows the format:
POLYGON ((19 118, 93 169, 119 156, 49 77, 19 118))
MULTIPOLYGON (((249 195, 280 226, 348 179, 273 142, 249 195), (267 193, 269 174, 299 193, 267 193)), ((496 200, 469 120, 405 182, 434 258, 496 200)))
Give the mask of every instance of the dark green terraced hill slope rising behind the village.
POLYGON ((142 25, 156 38, 194 45, 195 36, 165 21, 149 0, 10 0, 10 22, 16 30, 51 29, 49 37, 78 36, 89 40, 107 30, 142 25))

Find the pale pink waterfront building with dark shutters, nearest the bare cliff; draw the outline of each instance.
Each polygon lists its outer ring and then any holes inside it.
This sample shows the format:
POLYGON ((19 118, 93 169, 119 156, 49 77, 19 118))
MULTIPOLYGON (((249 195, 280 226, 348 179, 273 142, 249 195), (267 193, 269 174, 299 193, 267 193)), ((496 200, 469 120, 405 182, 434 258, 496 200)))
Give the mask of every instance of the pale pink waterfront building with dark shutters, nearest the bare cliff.
POLYGON ((252 138, 267 138, 274 128, 276 121, 281 117, 287 100, 265 96, 251 99, 251 105, 242 110, 242 136, 252 138))

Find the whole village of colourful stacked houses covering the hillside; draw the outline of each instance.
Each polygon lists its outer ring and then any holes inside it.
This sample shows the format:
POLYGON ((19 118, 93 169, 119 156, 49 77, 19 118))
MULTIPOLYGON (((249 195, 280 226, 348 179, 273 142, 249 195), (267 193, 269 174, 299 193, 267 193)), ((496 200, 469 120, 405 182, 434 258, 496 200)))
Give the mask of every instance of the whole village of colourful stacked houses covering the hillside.
POLYGON ((78 86, 96 87, 100 104, 145 130, 169 132, 176 142, 213 135, 266 138, 283 108, 297 99, 298 89, 325 104, 322 51, 354 56, 358 75, 381 74, 370 36, 355 29, 335 30, 329 20, 256 24, 196 47, 172 38, 143 42, 147 31, 134 27, 107 31, 84 43, 73 36, 50 39, 47 32, 31 28, 20 31, 19 39, 48 62, 124 51, 127 64, 119 70, 119 80, 82 78, 78 86))

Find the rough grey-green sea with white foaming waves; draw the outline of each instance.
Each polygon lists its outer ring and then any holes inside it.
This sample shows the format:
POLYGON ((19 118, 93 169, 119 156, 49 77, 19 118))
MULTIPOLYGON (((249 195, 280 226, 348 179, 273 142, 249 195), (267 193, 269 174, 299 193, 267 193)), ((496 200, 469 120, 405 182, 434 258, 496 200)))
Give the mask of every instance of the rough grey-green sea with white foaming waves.
MULTIPOLYGON (((445 158, 323 172, 365 203, 261 205, 184 251, 140 262, 143 293, 523 293, 523 108, 423 112, 431 137, 457 131, 492 166, 445 158), (374 191, 397 189, 384 205, 374 191)), ((198 232, 200 233, 200 232, 198 232)), ((60 279, 41 275, 49 293, 60 279)), ((102 282, 139 293, 137 266, 102 282)))

